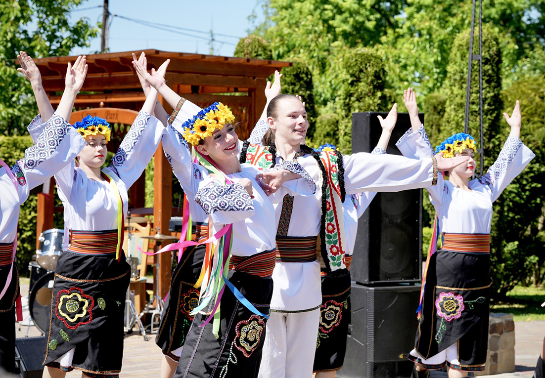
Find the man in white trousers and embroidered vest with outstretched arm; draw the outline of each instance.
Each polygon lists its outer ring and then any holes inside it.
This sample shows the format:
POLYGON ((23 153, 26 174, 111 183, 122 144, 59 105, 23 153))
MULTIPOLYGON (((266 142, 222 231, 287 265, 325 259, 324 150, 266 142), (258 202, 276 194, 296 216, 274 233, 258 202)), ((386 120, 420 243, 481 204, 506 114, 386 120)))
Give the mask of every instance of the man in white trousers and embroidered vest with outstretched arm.
POLYGON ((343 156, 320 154, 306 147, 308 128, 303 103, 293 95, 279 95, 267 108, 270 147, 245 144, 241 161, 270 167, 297 161, 322 191, 312 197, 286 197, 276 212, 277 260, 273 273, 274 294, 267 338, 259 374, 262 377, 310 376, 318 337, 322 295, 320 265, 316 260, 318 234, 326 271, 347 274, 344 256, 342 202, 362 191, 399 191, 432 184, 438 170, 467 160, 443 158, 411 162, 402 156, 365 153, 343 156))

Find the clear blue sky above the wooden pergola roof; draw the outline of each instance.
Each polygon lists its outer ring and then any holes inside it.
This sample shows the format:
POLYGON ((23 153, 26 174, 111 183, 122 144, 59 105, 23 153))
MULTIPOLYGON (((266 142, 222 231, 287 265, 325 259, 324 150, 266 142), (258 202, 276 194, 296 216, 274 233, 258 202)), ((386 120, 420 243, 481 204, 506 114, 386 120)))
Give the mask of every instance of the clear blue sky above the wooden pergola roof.
MULTIPOLYGON (((97 21, 102 21, 103 3, 102 0, 83 2, 72 10, 71 22, 86 16, 96 25, 97 21)), ((264 20, 262 3, 263 0, 110 0, 111 14, 192 30, 178 30, 180 33, 192 34, 181 35, 113 17, 110 27, 110 52, 156 48, 162 51, 209 54, 209 32, 212 29, 216 40, 214 55, 233 56, 238 39, 231 36, 243 37, 248 34, 249 29, 253 29, 254 25, 248 19, 252 13, 258 16, 257 24, 264 20), (196 38, 195 35, 201 38, 196 38)), ((90 47, 75 48, 71 54, 88 54, 98 50, 100 36, 91 41, 90 47)))

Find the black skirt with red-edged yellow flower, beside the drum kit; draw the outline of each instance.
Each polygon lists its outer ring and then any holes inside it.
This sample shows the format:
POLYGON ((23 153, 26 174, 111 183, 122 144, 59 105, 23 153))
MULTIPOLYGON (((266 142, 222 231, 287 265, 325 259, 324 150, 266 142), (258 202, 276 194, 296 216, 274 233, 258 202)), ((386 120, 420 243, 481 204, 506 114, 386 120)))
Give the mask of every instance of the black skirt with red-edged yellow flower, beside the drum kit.
POLYGON ((123 316, 130 265, 122 253, 64 252, 57 262, 44 365, 77 369, 89 376, 119 374, 123 359, 123 316), (76 348, 71 366, 54 362, 76 348))

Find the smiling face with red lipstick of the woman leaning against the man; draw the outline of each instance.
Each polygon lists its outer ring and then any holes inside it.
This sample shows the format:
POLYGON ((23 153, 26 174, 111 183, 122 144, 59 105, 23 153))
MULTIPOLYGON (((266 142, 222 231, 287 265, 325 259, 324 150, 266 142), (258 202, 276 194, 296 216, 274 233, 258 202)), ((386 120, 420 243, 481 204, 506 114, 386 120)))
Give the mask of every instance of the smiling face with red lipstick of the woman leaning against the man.
POLYGON ((227 124, 221 130, 214 130, 211 137, 204 138, 195 148, 199 154, 210 156, 216 162, 233 157, 238 160, 238 135, 234 126, 227 124))

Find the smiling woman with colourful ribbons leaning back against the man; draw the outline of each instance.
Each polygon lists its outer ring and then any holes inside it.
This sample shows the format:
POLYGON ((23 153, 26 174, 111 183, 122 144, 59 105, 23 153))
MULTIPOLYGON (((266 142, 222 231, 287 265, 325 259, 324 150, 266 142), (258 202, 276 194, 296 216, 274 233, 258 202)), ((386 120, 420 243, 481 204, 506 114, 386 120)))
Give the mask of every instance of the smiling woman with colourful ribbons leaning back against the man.
MULTIPOLYGON (((138 62, 133 64, 142 69, 138 62)), ((174 117, 180 117, 177 109, 184 108, 185 100, 172 92, 164 80, 155 80, 156 76, 145 71, 141 74, 173 106, 174 117)), ((174 129, 174 123, 169 125, 168 138, 163 140, 174 174, 186 193, 195 195, 213 228, 232 224, 233 230, 226 280, 229 290, 221 296, 220 315, 214 316, 219 322, 208 323, 211 315, 196 315, 181 353, 177 377, 257 376, 276 255, 275 228, 270 222, 274 207, 269 198, 281 199, 286 192, 311 194, 311 188, 315 188, 299 164, 282 164, 276 173, 260 173, 254 167, 240 164, 233 121, 227 107, 214 103, 187 120, 183 129, 174 129), (199 161, 207 168, 191 163, 187 142, 195 146, 199 161), (215 173, 209 175, 209 170, 215 173), (221 185, 221 178, 225 178, 226 185, 221 185), (256 178, 263 179, 261 185, 256 178), (282 186, 286 179, 299 180, 282 186), (267 197, 276 188, 280 190, 267 197)), ((214 300, 210 304, 208 311, 214 300)))

